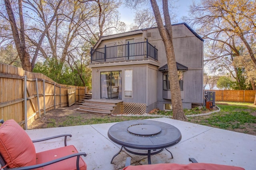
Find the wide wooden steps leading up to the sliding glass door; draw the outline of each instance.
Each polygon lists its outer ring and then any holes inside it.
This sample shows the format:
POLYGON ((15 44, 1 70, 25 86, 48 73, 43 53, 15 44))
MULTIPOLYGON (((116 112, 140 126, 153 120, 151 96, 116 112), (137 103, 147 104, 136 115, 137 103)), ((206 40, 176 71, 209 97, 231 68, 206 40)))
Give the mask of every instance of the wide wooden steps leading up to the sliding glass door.
POLYGON ((81 103, 82 105, 80 105, 77 111, 97 115, 111 115, 116 104, 120 102, 122 102, 122 100, 86 99, 81 103))

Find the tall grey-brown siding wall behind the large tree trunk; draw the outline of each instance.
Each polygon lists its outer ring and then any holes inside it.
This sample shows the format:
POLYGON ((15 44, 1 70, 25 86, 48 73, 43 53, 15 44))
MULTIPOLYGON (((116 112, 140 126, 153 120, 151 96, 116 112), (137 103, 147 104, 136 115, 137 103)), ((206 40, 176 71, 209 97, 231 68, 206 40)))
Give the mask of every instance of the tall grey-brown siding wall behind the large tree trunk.
MULTIPOLYGON (((191 103, 203 103, 203 42, 198 39, 185 25, 172 26, 173 44, 176 61, 188 67, 184 71, 184 86, 181 91, 184 108, 191 108, 191 103)), ((148 37, 148 42, 156 45, 158 49, 158 61, 160 67, 167 63, 164 44, 157 28, 148 29, 144 35, 148 37)), ((163 109, 163 103, 171 103, 170 100, 163 99, 163 73, 158 72, 158 108, 163 109)))

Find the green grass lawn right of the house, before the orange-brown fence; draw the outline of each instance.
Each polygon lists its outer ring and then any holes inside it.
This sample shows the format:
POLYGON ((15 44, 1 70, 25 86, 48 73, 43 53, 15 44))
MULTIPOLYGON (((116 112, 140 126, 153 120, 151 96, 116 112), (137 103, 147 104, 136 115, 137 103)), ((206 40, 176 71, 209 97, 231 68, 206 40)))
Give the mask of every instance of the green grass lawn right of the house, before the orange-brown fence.
POLYGON ((246 103, 217 104, 220 112, 207 116, 188 117, 191 123, 256 135, 256 107, 246 103), (227 105, 228 104, 228 105, 227 105))

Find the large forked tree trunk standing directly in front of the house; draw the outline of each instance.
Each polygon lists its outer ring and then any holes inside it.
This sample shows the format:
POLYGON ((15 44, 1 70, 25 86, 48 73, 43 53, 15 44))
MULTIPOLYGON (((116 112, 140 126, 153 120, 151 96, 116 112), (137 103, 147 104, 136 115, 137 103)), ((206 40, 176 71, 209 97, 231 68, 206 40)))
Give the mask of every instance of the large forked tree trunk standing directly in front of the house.
POLYGON ((174 48, 172 43, 172 25, 170 21, 170 15, 168 12, 168 1, 163 0, 164 20, 166 24, 165 27, 164 27, 156 0, 150 0, 150 2, 156 18, 158 30, 164 42, 164 47, 166 51, 167 65, 168 65, 168 71, 169 71, 170 90, 171 90, 171 96, 172 96, 172 111, 173 111, 172 118, 181 120, 181 121, 186 121, 187 117, 185 116, 183 107, 182 107, 180 84, 178 80, 178 72, 177 72, 177 66, 176 66, 176 58, 174 55, 174 48))

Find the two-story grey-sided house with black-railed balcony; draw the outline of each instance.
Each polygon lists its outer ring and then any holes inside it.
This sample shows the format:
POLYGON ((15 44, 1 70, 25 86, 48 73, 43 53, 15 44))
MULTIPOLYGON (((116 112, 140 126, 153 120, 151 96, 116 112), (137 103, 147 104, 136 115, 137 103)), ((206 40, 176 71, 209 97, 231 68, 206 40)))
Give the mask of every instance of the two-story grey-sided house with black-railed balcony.
MULTIPOLYGON (((204 40, 186 23, 172 25, 172 32, 182 104, 190 109, 192 103, 203 103, 204 40)), ((112 114, 172 108, 166 53, 158 28, 102 36, 91 50, 90 67, 91 100, 114 102, 118 107, 112 114)))

